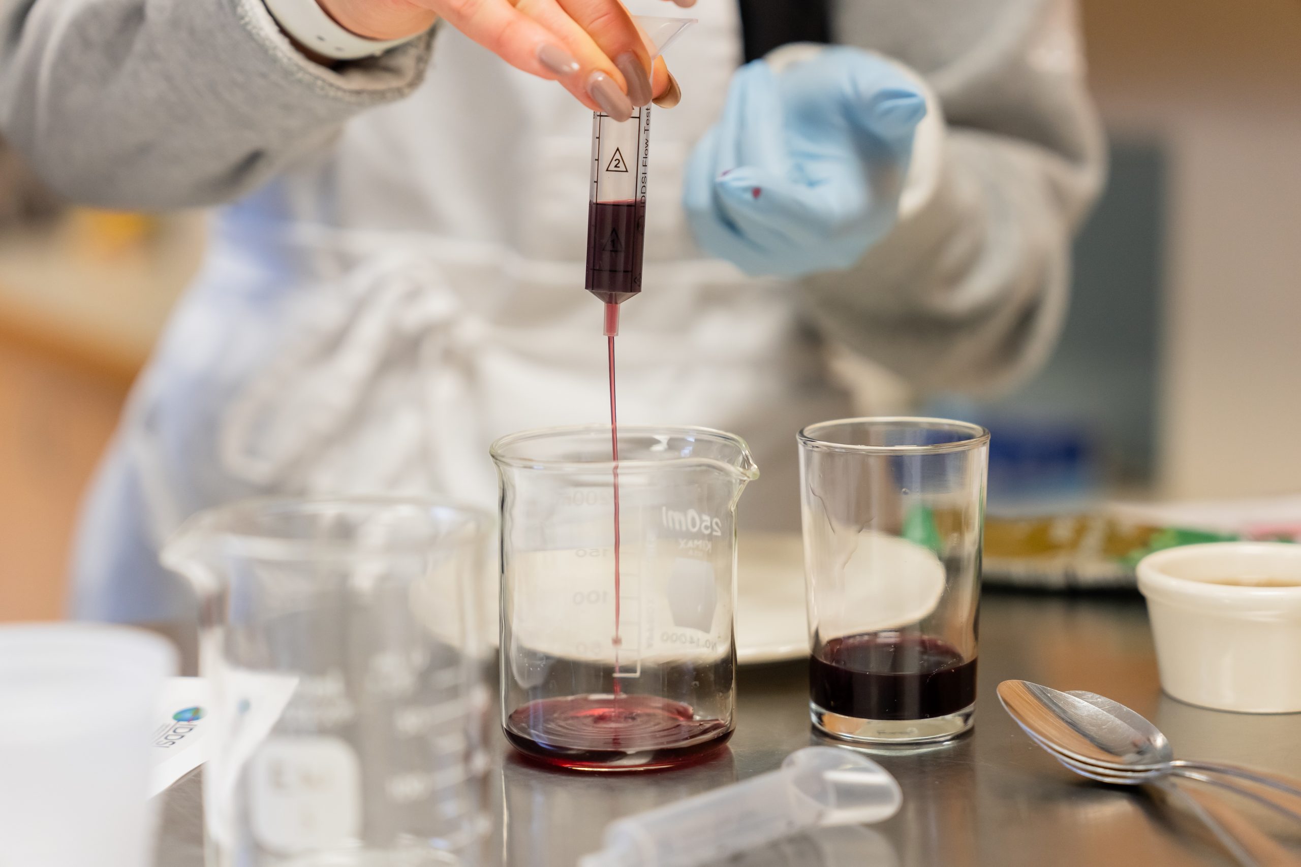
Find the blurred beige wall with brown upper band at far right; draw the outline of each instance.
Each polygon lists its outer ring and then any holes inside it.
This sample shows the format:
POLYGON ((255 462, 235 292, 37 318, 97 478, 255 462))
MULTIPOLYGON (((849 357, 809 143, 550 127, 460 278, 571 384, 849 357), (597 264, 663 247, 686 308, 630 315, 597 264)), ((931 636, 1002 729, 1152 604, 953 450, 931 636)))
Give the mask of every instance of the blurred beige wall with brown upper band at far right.
POLYGON ((1167 155, 1157 481, 1301 490, 1301 1, 1088 0, 1118 139, 1167 155))

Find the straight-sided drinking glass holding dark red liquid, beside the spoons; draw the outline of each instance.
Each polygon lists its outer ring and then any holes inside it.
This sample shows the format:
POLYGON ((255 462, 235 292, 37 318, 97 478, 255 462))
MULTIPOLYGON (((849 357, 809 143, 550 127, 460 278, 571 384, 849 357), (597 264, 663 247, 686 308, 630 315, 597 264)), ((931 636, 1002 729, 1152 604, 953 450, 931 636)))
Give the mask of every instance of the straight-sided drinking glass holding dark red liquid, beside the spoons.
POLYGON ((848 419, 799 434, 809 712, 857 744, 972 725, 989 432, 848 419))

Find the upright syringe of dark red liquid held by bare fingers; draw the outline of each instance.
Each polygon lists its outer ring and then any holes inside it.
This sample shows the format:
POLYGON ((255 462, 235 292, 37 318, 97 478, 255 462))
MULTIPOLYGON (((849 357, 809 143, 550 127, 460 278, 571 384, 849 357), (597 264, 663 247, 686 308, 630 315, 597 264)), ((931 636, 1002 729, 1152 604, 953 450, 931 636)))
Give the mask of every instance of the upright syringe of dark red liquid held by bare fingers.
MULTIPOLYGON (((637 16, 658 57, 693 18, 637 16)), ((605 303, 605 335, 619 333, 619 304, 641 291, 647 230, 647 170, 650 164, 650 107, 615 121, 592 121, 592 203, 587 227, 587 291, 605 303)))

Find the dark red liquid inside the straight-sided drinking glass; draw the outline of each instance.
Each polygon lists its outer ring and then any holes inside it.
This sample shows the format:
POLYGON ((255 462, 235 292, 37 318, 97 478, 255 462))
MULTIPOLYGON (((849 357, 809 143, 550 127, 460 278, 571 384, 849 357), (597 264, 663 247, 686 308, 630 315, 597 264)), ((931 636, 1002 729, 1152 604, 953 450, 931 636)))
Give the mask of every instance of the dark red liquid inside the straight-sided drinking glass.
POLYGON ((930 636, 833 638, 809 660, 809 697, 825 711, 857 719, 948 716, 976 701, 976 660, 930 636))

